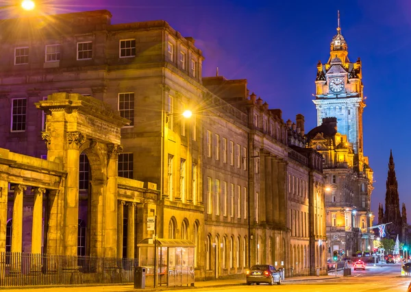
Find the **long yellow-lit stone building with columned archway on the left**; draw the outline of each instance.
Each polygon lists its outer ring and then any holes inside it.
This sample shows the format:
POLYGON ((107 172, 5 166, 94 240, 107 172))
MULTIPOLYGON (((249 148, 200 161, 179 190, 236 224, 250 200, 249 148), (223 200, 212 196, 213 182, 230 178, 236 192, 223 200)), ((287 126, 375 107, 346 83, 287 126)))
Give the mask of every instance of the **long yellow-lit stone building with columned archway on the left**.
POLYGON ((99 10, 0 24, 0 147, 71 173, 36 216, 23 186, 42 185, 3 178, 0 252, 37 253, 23 234, 49 214, 42 252, 136 258, 156 216, 159 238, 195 243, 197 279, 265 262, 326 273, 322 158, 304 148, 303 116, 284 123, 247 80, 203 78, 195 40, 165 21, 110 19, 99 10), (16 33, 16 23, 39 28, 16 33))

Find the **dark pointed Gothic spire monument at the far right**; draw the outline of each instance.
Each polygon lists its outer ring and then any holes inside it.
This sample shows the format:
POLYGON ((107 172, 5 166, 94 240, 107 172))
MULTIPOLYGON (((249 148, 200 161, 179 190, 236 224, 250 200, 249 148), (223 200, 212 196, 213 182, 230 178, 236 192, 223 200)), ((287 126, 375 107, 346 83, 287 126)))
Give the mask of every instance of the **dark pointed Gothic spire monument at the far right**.
POLYGON ((386 225, 386 237, 395 241, 399 236, 399 241, 408 244, 408 223, 406 204, 402 204, 399 210, 399 193, 397 176, 395 175, 395 163, 393 150, 390 151, 388 162, 388 175, 386 182, 385 205, 378 206, 378 224, 390 223, 386 225), (384 212, 385 206, 385 212, 384 212))

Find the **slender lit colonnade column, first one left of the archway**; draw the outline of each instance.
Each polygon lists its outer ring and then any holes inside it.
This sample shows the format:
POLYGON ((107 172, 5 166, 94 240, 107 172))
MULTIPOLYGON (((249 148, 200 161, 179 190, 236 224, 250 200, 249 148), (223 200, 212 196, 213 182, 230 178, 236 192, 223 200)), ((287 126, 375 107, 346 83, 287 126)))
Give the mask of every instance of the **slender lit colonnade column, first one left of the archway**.
POLYGON ((42 239, 42 195, 45 188, 32 188, 33 199, 33 226, 32 226, 32 254, 41 254, 42 239))

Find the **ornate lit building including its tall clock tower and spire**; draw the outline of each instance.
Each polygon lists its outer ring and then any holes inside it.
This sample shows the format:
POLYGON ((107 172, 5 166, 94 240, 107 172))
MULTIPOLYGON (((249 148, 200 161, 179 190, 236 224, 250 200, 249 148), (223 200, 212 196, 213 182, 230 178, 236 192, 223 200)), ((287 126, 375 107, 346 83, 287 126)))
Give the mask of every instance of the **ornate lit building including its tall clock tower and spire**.
POLYGON ((373 171, 363 151, 362 64, 360 59, 350 62, 339 19, 329 59, 317 65, 315 84, 318 127, 307 138, 308 146, 323 155, 323 171, 327 175, 328 257, 335 250, 342 258, 356 252, 370 252, 373 171))

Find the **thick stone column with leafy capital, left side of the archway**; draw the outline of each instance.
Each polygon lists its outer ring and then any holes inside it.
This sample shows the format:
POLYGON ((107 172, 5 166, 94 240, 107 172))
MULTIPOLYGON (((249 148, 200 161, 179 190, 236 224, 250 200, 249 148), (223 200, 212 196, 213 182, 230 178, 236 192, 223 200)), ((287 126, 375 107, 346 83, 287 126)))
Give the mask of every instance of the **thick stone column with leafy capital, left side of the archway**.
POLYGON ((81 132, 67 132, 67 178, 64 199, 64 254, 77 255, 79 224, 79 147, 86 142, 81 132))

